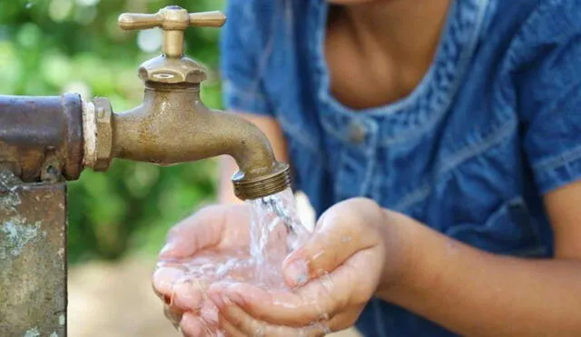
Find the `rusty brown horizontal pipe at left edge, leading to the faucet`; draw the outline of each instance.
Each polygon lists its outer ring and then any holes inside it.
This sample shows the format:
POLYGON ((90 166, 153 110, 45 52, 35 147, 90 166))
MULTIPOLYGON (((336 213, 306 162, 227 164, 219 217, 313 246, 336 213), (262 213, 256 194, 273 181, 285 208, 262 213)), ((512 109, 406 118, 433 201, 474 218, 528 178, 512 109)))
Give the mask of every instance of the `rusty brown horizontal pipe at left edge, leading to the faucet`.
POLYGON ((0 95, 0 166, 23 182, 76 180, 83 171, 79 94, 0 95))

